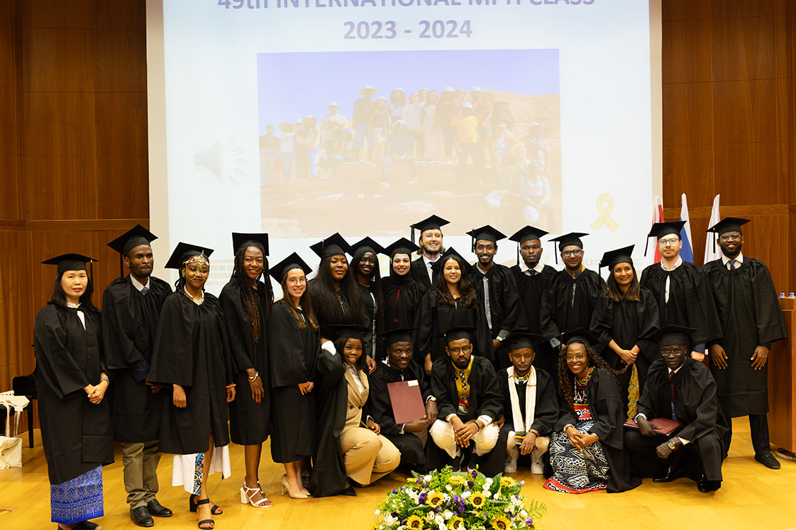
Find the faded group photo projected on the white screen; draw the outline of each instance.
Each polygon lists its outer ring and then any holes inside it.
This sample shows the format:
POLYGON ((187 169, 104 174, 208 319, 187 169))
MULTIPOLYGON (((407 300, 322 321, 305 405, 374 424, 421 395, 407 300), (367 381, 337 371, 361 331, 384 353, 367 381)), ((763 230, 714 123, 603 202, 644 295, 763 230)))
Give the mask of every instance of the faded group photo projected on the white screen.
POLYGON ((257 78, 267 230, 396 236, 436 213, 560 232, 557 50, 261 53, 257 78))

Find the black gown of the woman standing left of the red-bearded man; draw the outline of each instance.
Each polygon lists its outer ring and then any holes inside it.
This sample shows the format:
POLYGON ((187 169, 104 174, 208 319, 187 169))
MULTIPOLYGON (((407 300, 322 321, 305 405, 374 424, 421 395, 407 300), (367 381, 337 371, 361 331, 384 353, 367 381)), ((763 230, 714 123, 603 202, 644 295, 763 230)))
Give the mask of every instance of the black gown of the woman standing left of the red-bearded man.
MULTIPOLYGON (((591 315, 591 335, 599 340, 595 345, 609 366, 615 370, 625 367, 614 350, 611 350, 611 340, 624 350, 630 350, 638 345, 640 351, 636 356, 636 369, 638 371, 638 391, 641 393, 646 382, 646 373, 650 364, 661 358, 661 350, 657 341, 647 339, 657 331, 660 317, 657 314, 657 304, 649 289, 641 288, 638 302, 622 299, 618 302, 608 296, 601 296, 597 307, 591 315)), ((622 403, 627 405, 627 389, 630 385, 632 369, 618 376, 622 385, 622 403)))

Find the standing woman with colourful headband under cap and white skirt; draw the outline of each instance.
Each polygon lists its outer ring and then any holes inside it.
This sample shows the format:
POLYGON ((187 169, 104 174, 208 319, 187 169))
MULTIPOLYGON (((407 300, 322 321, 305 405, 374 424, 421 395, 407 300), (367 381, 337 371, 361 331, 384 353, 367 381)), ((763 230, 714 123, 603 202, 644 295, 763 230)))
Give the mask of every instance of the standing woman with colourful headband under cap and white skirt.
POLYGON ((166 263, 166 269, 177 269, 180 277, 177 291, 160 311, 149 377, 150 383, 170 389, 163 402, 160 449, 187 455, 174 459, 178 465, 192 460, 187 470, 183 466, 182 476, 199 528, 213 528, 209 516, 222 513, 210 504, 207 479, 213 456, 224 459, 228 451, 227 404, 236 394, 237 369, 221 305, 204 289, 212 253, 207 247, 181 242, 166 263), (190 482, 185 484, 187 477, 190 482))

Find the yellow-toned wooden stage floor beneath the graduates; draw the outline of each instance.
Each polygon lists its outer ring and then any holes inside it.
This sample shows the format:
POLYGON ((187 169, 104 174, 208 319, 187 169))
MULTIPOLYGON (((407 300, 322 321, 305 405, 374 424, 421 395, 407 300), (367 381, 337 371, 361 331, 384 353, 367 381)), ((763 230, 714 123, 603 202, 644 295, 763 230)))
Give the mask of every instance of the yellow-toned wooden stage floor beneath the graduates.
MULTIPOLYGON (((645 479, 642 486, 626 493, 570 495, 543 489, 543 479, 527 470, 513 476, 525 480, 524 491, 529 498, 548 505, 540 528, 796 528, 796 462, 781 460, 782 469, 767 469, 753 458, 747 419, 736 419, 734 428, 730 456, 724 462, 724 483, 715 493, 699 493, 694 482, 681 478, 669 484, 653 484, 645 479)), ((0 470, 0 528, 53 528, 49 522, 49 482, 41 439, 37 431, 33 449, 27 447, 27 434, 23 439, 23 466, 0 470)), ((243 482, 244 455, 242 447, 232 445, 232 477, 223 482, 217 474, 210 478, 211 499, 224 508, 224 514, 215 518, 216 528, 369 530, 376 522, 373 511, 380 499, 405 478, 404 474, 390 474, 369 488, 357 489, 357 497, 291 499, 280 495, 283 467, 271 462, 268 451, 266 444, 260 482, 274 505, 255 509, 240 504, 238 490, 243 482)), ((187 493, 170 486, 170 455, 163 455, 158 477, 158 500, 173 509, 174 516, 156 518, 154 528, 197 528, 196 516, 186 506, 187 493)), ((104 470, 104 491, 105 516, 96 522, 105 530, 139 528, 130 520, 125 501, 118 448, 116 463, 104 470)))

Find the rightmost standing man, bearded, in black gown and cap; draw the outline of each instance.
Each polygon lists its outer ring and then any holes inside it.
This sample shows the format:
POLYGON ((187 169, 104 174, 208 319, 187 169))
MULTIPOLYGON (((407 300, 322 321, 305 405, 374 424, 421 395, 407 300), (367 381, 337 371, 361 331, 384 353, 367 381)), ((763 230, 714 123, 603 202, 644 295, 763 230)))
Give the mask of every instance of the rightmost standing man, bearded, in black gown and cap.
MULTIPOLYGON (((708 230, 718 234, 724 253, 703 267, 724 334, 710 346, 710 368, 728 419, 749 416, 755 460, 779 469, 768 438, 767 359, 771 342, 786 339, 787 331, 768 267, 741 253, 747 222, 728 217, 708 230)), ((727 423, 725 455, 732 441, 732 420, 727 423)))

